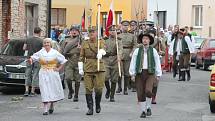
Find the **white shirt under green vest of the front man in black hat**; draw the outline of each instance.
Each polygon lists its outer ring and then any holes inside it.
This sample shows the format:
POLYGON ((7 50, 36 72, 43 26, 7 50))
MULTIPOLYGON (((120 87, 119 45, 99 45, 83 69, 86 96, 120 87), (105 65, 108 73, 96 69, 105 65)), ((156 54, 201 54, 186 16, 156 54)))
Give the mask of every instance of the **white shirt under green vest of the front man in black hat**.
MULTIPOLYGON (((136 75, 136 60, 137 60, 138 51, 139 51, 139 48, 136 48, 132 54, 131 63, 130 63, 130 67, 129 67, 129 74, 131 76, 136 75)), ((153 55, 154 55, 154 59, 155 59, 155 75, 160 77, 160 76, 162 76, 160 57, 155 48, 153 48, 153 55)), ((147 56, 145 56, 145 55, 144 55, 143 67, 144 68, 147 67, 147 69, 148 69, 147 56)))

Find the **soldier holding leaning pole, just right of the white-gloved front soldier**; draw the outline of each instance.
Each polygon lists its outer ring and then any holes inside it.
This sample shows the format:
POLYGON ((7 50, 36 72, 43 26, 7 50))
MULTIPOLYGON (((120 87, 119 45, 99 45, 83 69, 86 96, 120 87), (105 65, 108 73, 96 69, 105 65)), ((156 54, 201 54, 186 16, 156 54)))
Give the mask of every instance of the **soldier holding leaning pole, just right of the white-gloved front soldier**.
POLYGON ((105 50, 106 55, 104 57, 106 74, 105 74, 105 87, 107 89, 105 97, 108 99, 110 97, 110 102, 115 102, 114 94, 116 91, 116 83, 119 78, 119 63, 122 58, 122 41, 120 38, 117 38, 116 41, 116 28, 111 26, 109 28, 110 36, 105 40, 105 50), (117 48, 117 45, 118 48, 117 48), (118 50, 117 50, 118 49, 118 50), (111 86, 110 83, 111 82, 111 86))

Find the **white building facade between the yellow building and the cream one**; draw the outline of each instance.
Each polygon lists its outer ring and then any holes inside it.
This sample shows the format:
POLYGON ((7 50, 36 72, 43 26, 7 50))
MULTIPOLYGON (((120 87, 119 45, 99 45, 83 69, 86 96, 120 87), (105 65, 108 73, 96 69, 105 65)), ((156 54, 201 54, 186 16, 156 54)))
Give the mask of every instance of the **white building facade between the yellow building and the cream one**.
POLYGON ((158 23, 160 27, 178 23, 179 0, 148 0, 147 19, 158 23))

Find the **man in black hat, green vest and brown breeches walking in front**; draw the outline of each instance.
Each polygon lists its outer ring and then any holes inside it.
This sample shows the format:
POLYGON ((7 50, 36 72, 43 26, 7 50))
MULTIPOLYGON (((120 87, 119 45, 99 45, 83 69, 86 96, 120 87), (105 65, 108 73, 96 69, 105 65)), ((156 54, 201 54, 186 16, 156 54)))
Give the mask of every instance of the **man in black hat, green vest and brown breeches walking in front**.
POLYGON ((129 68, 132 80, 135 80, 137 98, 141 107, 141 118, 151 116, 152 88, 156 78, 162 75, 160 57, 156 49, 151 47, 154 38, 150 34, 140 34, 129 68))

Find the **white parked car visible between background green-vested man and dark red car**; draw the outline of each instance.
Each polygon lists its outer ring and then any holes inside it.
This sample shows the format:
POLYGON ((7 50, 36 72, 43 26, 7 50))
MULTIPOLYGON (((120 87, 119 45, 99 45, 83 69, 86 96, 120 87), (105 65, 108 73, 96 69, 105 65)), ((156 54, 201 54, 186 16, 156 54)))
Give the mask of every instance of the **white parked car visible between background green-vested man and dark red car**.
POLYGON ((195 63, 196 62, 196 53, 198 51, 198 48, 200 48, 202 42, 205 40, 205 38, 199 37, 199 36, 195 36, 194 40, 195 40, 195 45, 194 45, 195 52, 194 52, 194 54, 191 57, 191 63, 195 63))

